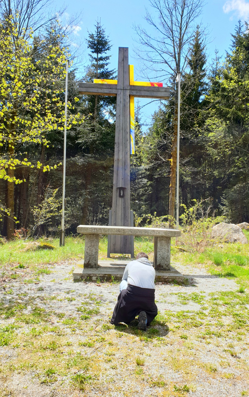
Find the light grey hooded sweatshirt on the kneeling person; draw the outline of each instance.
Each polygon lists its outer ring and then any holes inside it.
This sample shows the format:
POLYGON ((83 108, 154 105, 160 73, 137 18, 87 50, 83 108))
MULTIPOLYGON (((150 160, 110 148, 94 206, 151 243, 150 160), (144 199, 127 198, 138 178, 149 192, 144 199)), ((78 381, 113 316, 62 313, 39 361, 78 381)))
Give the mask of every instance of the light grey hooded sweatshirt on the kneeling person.
POLYGON ((132 260, 124 269, 123 280, 136 287, 155 289, 155 269, 147 258, 132 260))

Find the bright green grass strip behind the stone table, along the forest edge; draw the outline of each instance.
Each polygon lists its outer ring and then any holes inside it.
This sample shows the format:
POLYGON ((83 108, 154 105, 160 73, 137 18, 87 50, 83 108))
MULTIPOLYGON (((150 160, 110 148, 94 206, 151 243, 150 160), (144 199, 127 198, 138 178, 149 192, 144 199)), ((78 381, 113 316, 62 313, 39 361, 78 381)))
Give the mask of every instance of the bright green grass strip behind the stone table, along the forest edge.
MULTIPOLYGON (((245 231, 249 239, 249 231, 245 231)), ((235 278, 239 283, 249 286, 249 244, 227 244, 215 245, 208 247, 204 252, 192 252, 191 249, 186 252, 179 251, 175 246, 175 239, 172 239, 171 260, 182 264, 204 264, 211 274, 219 277, 235 278)), ((42 242, 43 240, 40 239, 42 242)), ((54 250, 27 251, 23 249, 27 243, 23 240, 10 241, 1 246, 0 264, 14 265, 17 269, 26 267, 36 268, 37 276, 41 273, 49 273, 50 270, 42 269, 41 265, 53 264, 61 260, 84 258, 84 237, 66 237, 65 246, 59 247, 59 239, 54 239, 52 245, 54 250), (40 273, 39 273, 40 272, 40 273)), ((134 239, 135 255, 144 251, 149 254, 149 259, 153 260, 153 239, 146 237, 135 237, 134 239)), ((129 255, 112 254, 113 259, 128 259, 129 255)), ((99 258, 107 260, 107 236, 100 238, 99 258)), ((19 276, 11 274, 15 279, 19 276)), ((25 280, 25 283, 33 283, 33 279, 25 280)), ((115 280, 113 280, 115 282, 115 280)), ((184 297, 182 297, 182 301, 184 297)), ((87 315, 88 313, 84 313, 87 315)))

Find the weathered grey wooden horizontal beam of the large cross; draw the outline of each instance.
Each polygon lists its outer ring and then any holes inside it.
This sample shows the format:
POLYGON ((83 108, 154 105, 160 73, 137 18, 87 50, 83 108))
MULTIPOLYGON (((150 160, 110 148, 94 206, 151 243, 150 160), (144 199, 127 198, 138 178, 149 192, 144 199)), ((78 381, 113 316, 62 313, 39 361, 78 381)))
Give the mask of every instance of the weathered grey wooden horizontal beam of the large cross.
MULTIPOLYGON (((129 85, 129 95, 137 98, 169 99, 169 87, 129 85)), ((79 83, 79 94, 117 96, 116 84, 79 83)))

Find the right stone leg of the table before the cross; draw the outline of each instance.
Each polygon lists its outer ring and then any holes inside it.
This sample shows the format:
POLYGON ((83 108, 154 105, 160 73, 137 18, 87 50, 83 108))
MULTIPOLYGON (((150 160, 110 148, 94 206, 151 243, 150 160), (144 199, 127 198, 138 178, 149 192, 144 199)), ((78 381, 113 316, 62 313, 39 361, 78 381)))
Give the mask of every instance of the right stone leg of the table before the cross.
POLYGON ((155 270, 170 270, 170 237, 154 237, 155 270))

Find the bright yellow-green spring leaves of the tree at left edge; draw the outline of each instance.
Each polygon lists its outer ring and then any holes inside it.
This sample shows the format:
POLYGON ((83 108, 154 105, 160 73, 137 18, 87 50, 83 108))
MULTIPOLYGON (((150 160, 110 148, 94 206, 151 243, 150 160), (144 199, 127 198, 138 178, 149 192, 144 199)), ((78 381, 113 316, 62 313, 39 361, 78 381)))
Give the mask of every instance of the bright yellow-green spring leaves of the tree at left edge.
MULTIPOLYGON (((46 54, 35 59, 31 44, 33 32, 22 33, 19 33, 15 15, 0 23, 0 146, 4 149, 0 155, 0 178, 15 183, 21 180, 11 177, 8 169, 13 170, 17 165, 33 167, 28 158, 19 156, 22 145, 43 143, 48 147, 46 134, 63 130, 64 103, 61 97, 64 88, 55 81, 65 79, 68 59, 59 40, 58 44, 53 42, 49 46, 41 40, 39 44, 46 46, 46 54), (28 116, 31 113, 32 118, 28 116)), ((68 107, 71 108, 70 102, 68 107)), ((69 115, 68 129, 78 122, 77 118, 79 115, 69 115)), ((37 168, 41 166, 38 161, 37 168)), ((56 168, 42 167, 44 172, 56 168)))

